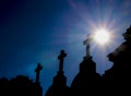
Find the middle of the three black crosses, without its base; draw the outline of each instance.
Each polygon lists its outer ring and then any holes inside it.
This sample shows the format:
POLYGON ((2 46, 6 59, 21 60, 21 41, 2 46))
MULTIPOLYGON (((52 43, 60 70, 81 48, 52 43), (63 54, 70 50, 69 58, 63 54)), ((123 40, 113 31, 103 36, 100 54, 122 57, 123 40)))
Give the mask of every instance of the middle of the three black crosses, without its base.
POLYGON ((60 56, 58 56, 58 59, 60 60, 60 65, 59 65, 59 72, 63 71, 63 59, 67 57, 67 53, 64 50, 60 51, 60 56))

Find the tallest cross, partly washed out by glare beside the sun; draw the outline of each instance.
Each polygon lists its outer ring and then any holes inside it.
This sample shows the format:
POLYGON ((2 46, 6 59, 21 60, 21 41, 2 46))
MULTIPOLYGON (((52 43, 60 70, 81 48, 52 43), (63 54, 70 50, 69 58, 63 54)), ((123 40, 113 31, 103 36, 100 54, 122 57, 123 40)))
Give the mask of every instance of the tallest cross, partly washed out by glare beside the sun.
POLYGON ((87 38, 83 41, 83 44, 86 46, 86 56, 85 58, 90 58, 91 55, 90 55, 90 43, 91 43, 92 38, 91 38, 91 35, 87 35, 87 38))

